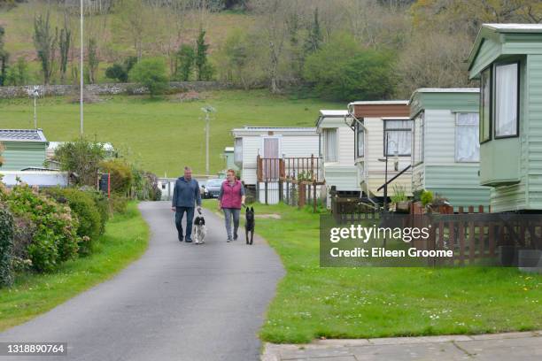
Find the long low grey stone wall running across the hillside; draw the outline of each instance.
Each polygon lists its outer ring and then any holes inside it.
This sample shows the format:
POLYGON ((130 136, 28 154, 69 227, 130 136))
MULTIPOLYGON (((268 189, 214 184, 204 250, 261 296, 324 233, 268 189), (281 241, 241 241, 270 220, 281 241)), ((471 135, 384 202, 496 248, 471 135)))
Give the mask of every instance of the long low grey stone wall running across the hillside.
MULTIPOLYGON (((205 91, 233 88, 228 81, 171 81, 170 88, 182 91, 205 91)), ((39 85, 40 96, 67 96, 79 94, 79 87, 74 85, 39 85)), ((0 98, 32 96, 33 85, 0 87, 0 98)), ((85 92, 93 95, 147 94, 147 88, 136 83, 87 84, 85 92)))

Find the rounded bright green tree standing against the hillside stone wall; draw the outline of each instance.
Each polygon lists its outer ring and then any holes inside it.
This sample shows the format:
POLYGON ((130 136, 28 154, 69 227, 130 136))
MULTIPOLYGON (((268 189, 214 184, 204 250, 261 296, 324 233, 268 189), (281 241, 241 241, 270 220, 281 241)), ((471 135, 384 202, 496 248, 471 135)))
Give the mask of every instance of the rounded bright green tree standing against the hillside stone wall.
POLYGON ((128 79, 149 89, 151 96, 163 94, 169 86, 166 65, 159 58, 146 58, 134 65, 128 79))

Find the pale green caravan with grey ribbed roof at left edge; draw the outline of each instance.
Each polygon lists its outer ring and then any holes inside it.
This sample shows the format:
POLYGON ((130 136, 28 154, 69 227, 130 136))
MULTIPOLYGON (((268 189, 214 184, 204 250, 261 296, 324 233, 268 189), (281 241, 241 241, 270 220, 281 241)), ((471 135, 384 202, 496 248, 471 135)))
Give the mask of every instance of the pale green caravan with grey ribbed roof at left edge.
POLYGON ((4 145, 3 171, 43 168, 49 142, 42 129, 0 129, 0 143, 4 145))

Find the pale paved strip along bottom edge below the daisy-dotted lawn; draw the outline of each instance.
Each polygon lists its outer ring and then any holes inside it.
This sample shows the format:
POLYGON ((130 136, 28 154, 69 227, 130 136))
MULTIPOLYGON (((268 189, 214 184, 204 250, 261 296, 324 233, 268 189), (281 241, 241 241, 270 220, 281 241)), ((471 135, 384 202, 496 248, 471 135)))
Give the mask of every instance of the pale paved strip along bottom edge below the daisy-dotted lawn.
POLYGON ((267 343, 262 361, 539 361, 542 331, 474 336, 319 340, 307 345, 267 343))

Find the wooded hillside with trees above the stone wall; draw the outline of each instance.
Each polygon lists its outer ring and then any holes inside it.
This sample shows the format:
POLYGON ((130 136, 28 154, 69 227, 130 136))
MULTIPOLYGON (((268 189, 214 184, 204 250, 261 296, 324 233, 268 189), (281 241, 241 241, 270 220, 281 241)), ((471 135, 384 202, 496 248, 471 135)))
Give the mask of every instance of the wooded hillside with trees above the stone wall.
MULTIPOLYGON (((77 78, 74 33, 79 1, 35 14, 43 82, 77 78), (50 12, 62 26, 53 27, 50 12), (60 14, 60 15, 58 15, 60 14), (53 79, 54 78, 54 79, 53 79)), ((536 0, 97 0, 85 8, 87 81, 128 81, 142 58, 159 57, 169 80, 233 81, 273 93, 329 99, 406 97, 415 88, 473 86, 465 59, 488 22, 539 23, 536 0), (252 19, 220 41, 216 14, 252 19), (112 50, 122 39, 128 50, 112 50), (118 42, 117 42, 118 43, 118 42), (129 53, 129 54, 128 54, 129 53), (111 58, 116 59, 111 61, 111 58), (107 60, 105 60, 107 59, 107 60)), ((0 84, 25 81, 24 59, 9 60, 0 28, 0 84)))

